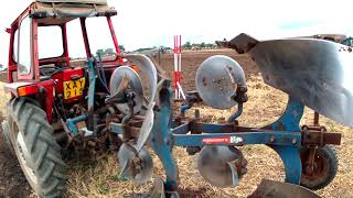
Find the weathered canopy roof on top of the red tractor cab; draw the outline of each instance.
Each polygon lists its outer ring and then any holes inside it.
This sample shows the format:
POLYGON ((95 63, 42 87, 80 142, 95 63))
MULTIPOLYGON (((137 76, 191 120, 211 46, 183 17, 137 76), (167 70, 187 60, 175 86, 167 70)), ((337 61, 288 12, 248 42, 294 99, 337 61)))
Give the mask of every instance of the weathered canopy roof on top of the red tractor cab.
POLYGON ((40 24, 61 24, 76 18, 110 16, 117 11, 106 0, 36 0, 30 7, 30 16, 40 24))

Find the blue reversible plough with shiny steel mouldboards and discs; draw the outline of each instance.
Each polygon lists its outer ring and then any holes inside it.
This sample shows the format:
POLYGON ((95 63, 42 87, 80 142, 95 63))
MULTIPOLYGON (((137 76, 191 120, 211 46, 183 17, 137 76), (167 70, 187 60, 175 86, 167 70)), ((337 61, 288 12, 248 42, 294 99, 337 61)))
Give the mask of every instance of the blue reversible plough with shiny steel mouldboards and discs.
MULTIPOLYGON (((151 91, 142 123, 133 122, 133 112, 126 116, 129 118, 126 123, 110 123, 110 130, 121 134, 124 140, 118 153, 121 175, 137 184, 152 177, 153 163, 146 148, 149 144, 163 164, 167 176, 163 182, 154 179, 157 186, 150 196, 178 197, 174 160, 178 156, 173 156, 172 150, 183 146, 189 154, 200 153, 197 168, 205 180, 217 187, 234 187, 247 172, 247 161, 237 147, 265 144, 281 157, 287 185, 265 179, 252 197, 319 197, 309 189, 323 188, 334 178, 338 158, 329 144, 340 144, 341 134, 328 132, 319 124, 318 116, 353 125, 350 116, 352 84, 345 73, 353 63, 353 54, 346 46, 310 38, 259 42, 240 34, 231 42, 218 44, 248 53, 259 66, 265 82, 289 95, 282 116, 263 128, 242 127, 237 119, 248 99, 245 75, 234 59, 218 55, 201 64, 195 79, 196 91, 185 95, 180 116, 173 118, 170 80, 158 76, 147 57, 129 55, 127 58, 148 74, 151 91), (185 111, 199 102, 215 109, 237 106, 237 111, 226 124, 202 122, 197 110, 194 118, 185 118, 185 111), (314 122, 300 127, 306 106, 315 111, 314 122)), ((118 92, 130 88, 136 95, 129 82, 140 81, 138 76, 122 73, 120 76, 118 92)), ((141 102, 142 99, 137 103, 141 102)))

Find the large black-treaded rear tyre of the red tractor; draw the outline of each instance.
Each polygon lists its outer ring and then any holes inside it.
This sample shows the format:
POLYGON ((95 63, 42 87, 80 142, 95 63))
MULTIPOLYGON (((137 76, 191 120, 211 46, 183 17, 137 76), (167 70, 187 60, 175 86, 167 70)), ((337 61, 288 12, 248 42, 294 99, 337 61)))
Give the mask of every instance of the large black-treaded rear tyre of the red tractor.
POLYGON ((8 106, 8 120, 15 155, 31 187, 41 197, 62 197, 66 166, 46 113, 23 98, 14 99, 8 106))

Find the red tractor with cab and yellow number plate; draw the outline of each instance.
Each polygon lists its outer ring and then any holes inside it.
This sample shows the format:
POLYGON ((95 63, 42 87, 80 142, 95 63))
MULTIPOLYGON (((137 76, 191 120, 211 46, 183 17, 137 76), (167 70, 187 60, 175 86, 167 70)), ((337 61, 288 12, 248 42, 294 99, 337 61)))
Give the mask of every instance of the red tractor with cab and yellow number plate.
MULTIPOLYGON (((3 133, 41 197, 63 195, 64 156, 72 151, 118 146, 106 123, 120 121, 124 101, 119 107, 106 102, 118 85, 110 77, 117 68, 133 75, 135 67, 122 66, 110 19, 116 14, 105 0, 36 0, 7 29, 11 36, 4 89, 11 100, 3 133), (79 41, 86 56, 82 61, 69 51, 79 41)), ((128 96, 133 98, 133 92, 128 96)), ((133 106, 133 99, 125 101, 133 106)))

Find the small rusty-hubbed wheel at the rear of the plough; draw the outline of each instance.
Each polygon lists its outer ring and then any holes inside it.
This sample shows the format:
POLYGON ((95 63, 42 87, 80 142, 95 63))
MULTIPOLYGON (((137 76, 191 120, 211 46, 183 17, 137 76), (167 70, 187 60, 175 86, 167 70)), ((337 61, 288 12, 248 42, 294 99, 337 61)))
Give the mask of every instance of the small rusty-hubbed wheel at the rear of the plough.
POLYGON ((318 190, 328 186, 338 173, 339 161, 332 146, 318 147, 314 152, 313 166, 308 166, 310 148, 300 150, 302 173, 300 185, 311 190, 318 190))

